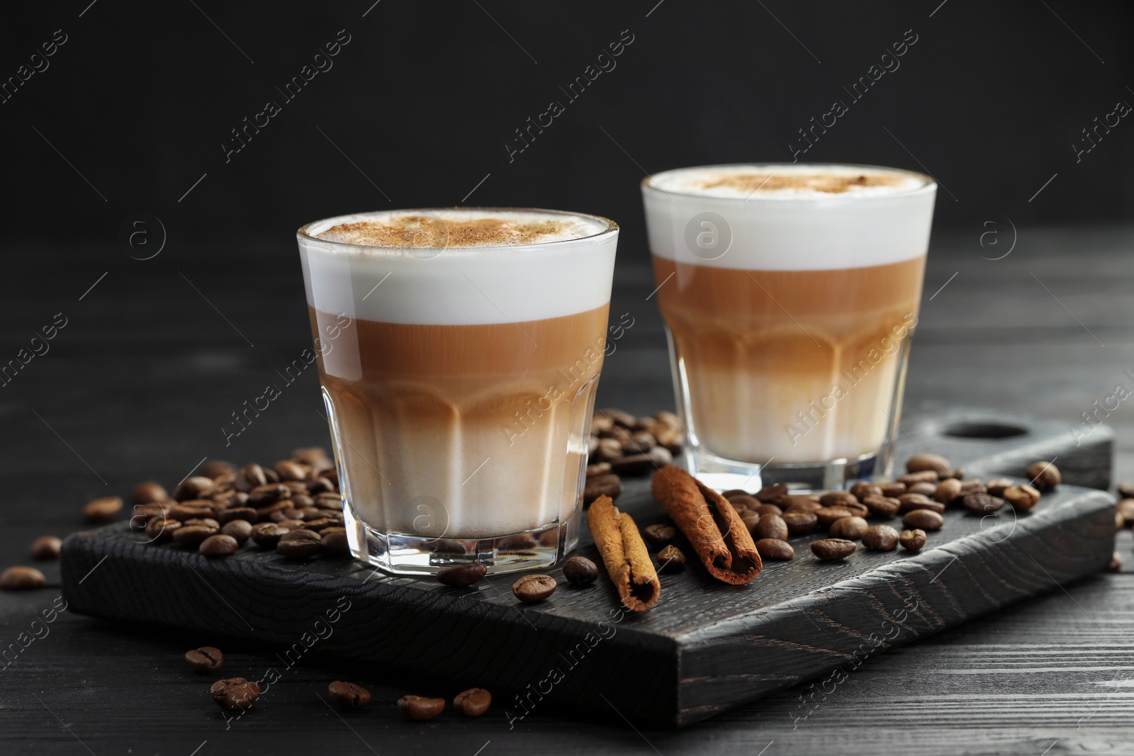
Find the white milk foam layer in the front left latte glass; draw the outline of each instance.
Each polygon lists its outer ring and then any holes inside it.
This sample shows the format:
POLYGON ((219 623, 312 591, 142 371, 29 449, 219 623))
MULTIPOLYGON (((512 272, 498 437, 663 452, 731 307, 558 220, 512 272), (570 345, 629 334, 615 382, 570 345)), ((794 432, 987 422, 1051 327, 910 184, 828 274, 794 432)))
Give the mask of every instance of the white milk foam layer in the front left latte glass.
MULTIPOLYGON (((451 236, 460 235, 454 230, 451 236)), ((552 211, 404 210, 316 221, 297 237, 307 304, 316 309, 384 323, 479 325, 561 317, 610 301, 618 227, 594 215, 552 211), (365 229, 328 233, 346 223, 421 216, 435 219, 422 237, 435 246, 359 245, 370 238, 365 229), (486 219, 556 228, 525 236, 524 244, 446 245, 447 223, 457 229, 486 219)))

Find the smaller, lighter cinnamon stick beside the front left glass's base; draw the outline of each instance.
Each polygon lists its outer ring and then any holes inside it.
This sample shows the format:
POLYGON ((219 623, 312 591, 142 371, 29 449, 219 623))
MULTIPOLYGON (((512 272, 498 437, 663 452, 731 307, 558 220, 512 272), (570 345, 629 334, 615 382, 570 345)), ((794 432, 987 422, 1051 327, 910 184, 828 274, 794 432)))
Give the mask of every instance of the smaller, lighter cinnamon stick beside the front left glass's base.
POLYGON ((635 612, 653 606, 661 584, 634 519, 618 511, 610 496, 599 496, 586 511, 586 524, 623 606, 635 612))

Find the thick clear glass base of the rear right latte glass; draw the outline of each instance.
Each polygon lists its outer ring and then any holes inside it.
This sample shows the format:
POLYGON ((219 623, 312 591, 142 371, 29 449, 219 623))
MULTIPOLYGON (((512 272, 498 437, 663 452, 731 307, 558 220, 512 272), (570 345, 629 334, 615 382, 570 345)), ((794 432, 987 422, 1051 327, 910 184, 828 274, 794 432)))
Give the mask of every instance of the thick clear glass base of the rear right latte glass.
POLYGON ((892 445, 856 459, 828 462, 758 465, 717 457, 702 449, 689 449, 685 461, 689 473, 710 489, 759 491, 765 485, 784 484, 793 492, 838 491, 856 481, 880 481, 892 472, 892 445))

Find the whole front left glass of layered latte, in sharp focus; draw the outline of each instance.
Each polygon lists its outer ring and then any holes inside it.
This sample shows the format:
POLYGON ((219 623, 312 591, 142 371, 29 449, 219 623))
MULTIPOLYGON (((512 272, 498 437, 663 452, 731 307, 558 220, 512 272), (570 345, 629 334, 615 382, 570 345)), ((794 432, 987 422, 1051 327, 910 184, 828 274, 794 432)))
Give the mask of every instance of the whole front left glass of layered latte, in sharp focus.
POLYGON ((570 551, 618 227, 407 210, 297 236, 354 555, 422 575, 570 551))

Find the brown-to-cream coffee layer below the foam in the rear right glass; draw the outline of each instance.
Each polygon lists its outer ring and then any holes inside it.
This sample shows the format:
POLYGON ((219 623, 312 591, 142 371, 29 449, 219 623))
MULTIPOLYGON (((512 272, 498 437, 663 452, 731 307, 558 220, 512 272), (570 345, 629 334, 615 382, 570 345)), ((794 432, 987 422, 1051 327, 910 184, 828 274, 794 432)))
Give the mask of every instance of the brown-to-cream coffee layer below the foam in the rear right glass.
POLYGON ((684 362, 700 443, 751 462, 877 451, 924 264, 750 271, 655 255, 658 304, 684 362))

